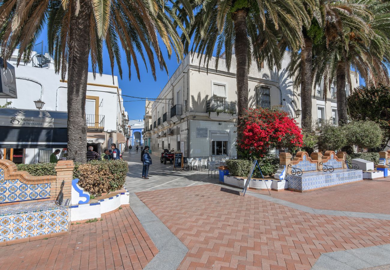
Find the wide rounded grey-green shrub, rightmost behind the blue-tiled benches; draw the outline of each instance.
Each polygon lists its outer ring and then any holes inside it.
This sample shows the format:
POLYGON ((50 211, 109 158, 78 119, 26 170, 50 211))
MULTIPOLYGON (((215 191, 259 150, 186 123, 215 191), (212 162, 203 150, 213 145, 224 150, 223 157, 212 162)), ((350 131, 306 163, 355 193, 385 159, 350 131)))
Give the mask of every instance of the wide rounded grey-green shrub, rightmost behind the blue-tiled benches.
POLYGON ((343 126, 347 145, 363 148, 376 148, 381 145, 383 132, 374 121, 353 121, 343 126))

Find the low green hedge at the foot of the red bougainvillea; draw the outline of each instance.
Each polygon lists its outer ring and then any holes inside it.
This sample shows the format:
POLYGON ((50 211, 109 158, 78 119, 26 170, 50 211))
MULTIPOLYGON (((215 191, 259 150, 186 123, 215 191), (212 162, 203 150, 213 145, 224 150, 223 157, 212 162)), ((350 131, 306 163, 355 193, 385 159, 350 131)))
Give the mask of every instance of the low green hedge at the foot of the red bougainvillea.
MULTIPOLYGON (((279 168, 279 159, 274 157, 266 157, 259 162, 261 172, 263 176, 272 176, 279 168)), ((233 176, 248 177, 249 171, 252 167, 251 160, 243 159, 230 159, 226 162, 227 167, 229 167, 229 174, 233 176)), ((254 177, 261 178, 259 169, 255 167, 254 177)))

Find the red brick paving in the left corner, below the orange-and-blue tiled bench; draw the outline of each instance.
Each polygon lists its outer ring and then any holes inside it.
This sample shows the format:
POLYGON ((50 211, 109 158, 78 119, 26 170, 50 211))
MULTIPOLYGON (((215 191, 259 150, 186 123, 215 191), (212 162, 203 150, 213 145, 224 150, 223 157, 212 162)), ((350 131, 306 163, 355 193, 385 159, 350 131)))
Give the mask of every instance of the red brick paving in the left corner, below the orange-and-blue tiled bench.
POLYGON ((2 270, 142 269, 158 253, 129 206, 66 236, 0 247, 2 270))

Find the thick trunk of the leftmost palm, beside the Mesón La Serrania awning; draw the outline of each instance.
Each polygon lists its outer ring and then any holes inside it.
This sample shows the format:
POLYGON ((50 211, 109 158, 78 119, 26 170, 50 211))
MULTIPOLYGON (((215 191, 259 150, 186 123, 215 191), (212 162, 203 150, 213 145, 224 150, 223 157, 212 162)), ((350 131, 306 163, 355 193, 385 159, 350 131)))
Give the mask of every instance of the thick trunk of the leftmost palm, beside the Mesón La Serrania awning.
POLYGON ((87 122, 85 120, 85 96, 87 94, 89 56, 89 0, 79 0, 80 11, 76 16, 77 1, 72 1, 68 60, 68 159, 86 162, 87 122))

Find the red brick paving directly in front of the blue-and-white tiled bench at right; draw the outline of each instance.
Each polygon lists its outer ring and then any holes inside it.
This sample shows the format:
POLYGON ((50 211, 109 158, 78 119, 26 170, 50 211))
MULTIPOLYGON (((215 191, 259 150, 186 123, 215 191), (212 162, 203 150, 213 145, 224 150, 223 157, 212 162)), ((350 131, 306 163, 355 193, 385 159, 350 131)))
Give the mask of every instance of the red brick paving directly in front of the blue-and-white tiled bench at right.
MULTIPOLYGON (((390 214, 389 190, 390 176, 302 193, 271 190, 271 195, 316 209, 390 214)), ((267 190, 249 191, 268 195, 267 190)))

